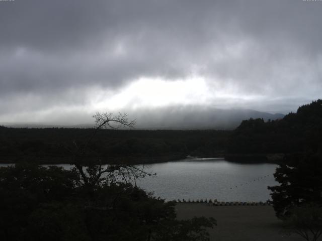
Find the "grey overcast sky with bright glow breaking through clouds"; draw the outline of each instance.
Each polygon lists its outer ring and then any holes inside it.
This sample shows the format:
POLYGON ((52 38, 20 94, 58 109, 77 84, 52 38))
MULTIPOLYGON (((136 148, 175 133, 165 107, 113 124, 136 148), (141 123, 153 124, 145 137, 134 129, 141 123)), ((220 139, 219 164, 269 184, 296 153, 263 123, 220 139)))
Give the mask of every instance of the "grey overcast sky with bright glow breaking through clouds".
POLYGON ((294 111, 321 97, 321 23, 322 1, 2 1, 0 123, 294 111))

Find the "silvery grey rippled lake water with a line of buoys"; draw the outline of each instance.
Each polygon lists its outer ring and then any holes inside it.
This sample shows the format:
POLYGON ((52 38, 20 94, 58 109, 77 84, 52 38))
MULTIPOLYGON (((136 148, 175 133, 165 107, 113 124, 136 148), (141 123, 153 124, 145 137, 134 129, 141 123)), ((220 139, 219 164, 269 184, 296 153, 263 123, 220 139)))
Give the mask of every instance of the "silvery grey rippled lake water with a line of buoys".
MULTIPOLYGON (((67 164, 58 166, 70 168, 67 164)), ((266 201, 270 199, 267 186, 278 184, 273 177, 276 167, 267 163, 232 163, 220 158, 184 159, 145 165, 147 172, 156 175, 137 180, 137 185, 167 200, 266 201)))

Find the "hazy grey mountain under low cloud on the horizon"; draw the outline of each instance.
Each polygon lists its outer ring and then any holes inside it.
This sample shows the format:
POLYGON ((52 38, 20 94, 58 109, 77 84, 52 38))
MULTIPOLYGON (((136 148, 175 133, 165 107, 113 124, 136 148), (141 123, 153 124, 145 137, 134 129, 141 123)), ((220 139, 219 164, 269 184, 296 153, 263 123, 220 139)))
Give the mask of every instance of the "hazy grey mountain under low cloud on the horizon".
MULTIPOLYGON (((283 118, 284 114, 261 112, 252 109, 217 109, 195 105, 137 109, 129 111, 128 116, 136 119, 135 129, 139 130, 233 130, 249 118, 283 118)), ((14 128, 91 128, 93 124, 53 125, 45 123, 2 123, 14 128)))

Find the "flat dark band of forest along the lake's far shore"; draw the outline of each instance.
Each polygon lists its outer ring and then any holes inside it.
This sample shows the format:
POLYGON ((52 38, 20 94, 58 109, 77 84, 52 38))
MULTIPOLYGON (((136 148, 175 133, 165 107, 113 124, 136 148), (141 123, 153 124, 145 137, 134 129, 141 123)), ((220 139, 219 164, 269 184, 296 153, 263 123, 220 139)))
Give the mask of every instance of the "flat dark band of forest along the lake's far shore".
MULTIPOLYGON (((73 141, 86 143, 93 129, 0 128, 0 162, 30 158, 39 163, 71 163, 73 141)), ((104 163, 159 162, 191 156, 223 155, 228 131, 99 130, 86 156, 104 163)))

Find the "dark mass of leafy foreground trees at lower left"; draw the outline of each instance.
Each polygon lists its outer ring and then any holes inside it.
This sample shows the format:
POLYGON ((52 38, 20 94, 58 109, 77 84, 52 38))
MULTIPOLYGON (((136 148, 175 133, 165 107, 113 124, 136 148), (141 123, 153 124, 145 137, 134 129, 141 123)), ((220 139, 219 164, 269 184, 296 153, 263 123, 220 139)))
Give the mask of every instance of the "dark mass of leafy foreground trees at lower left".
POLYGON ((174 206, 113 175, 89 187, 77 169, 0 168, 2 240, 208 240, 215 220, 177 220, 174 206))

